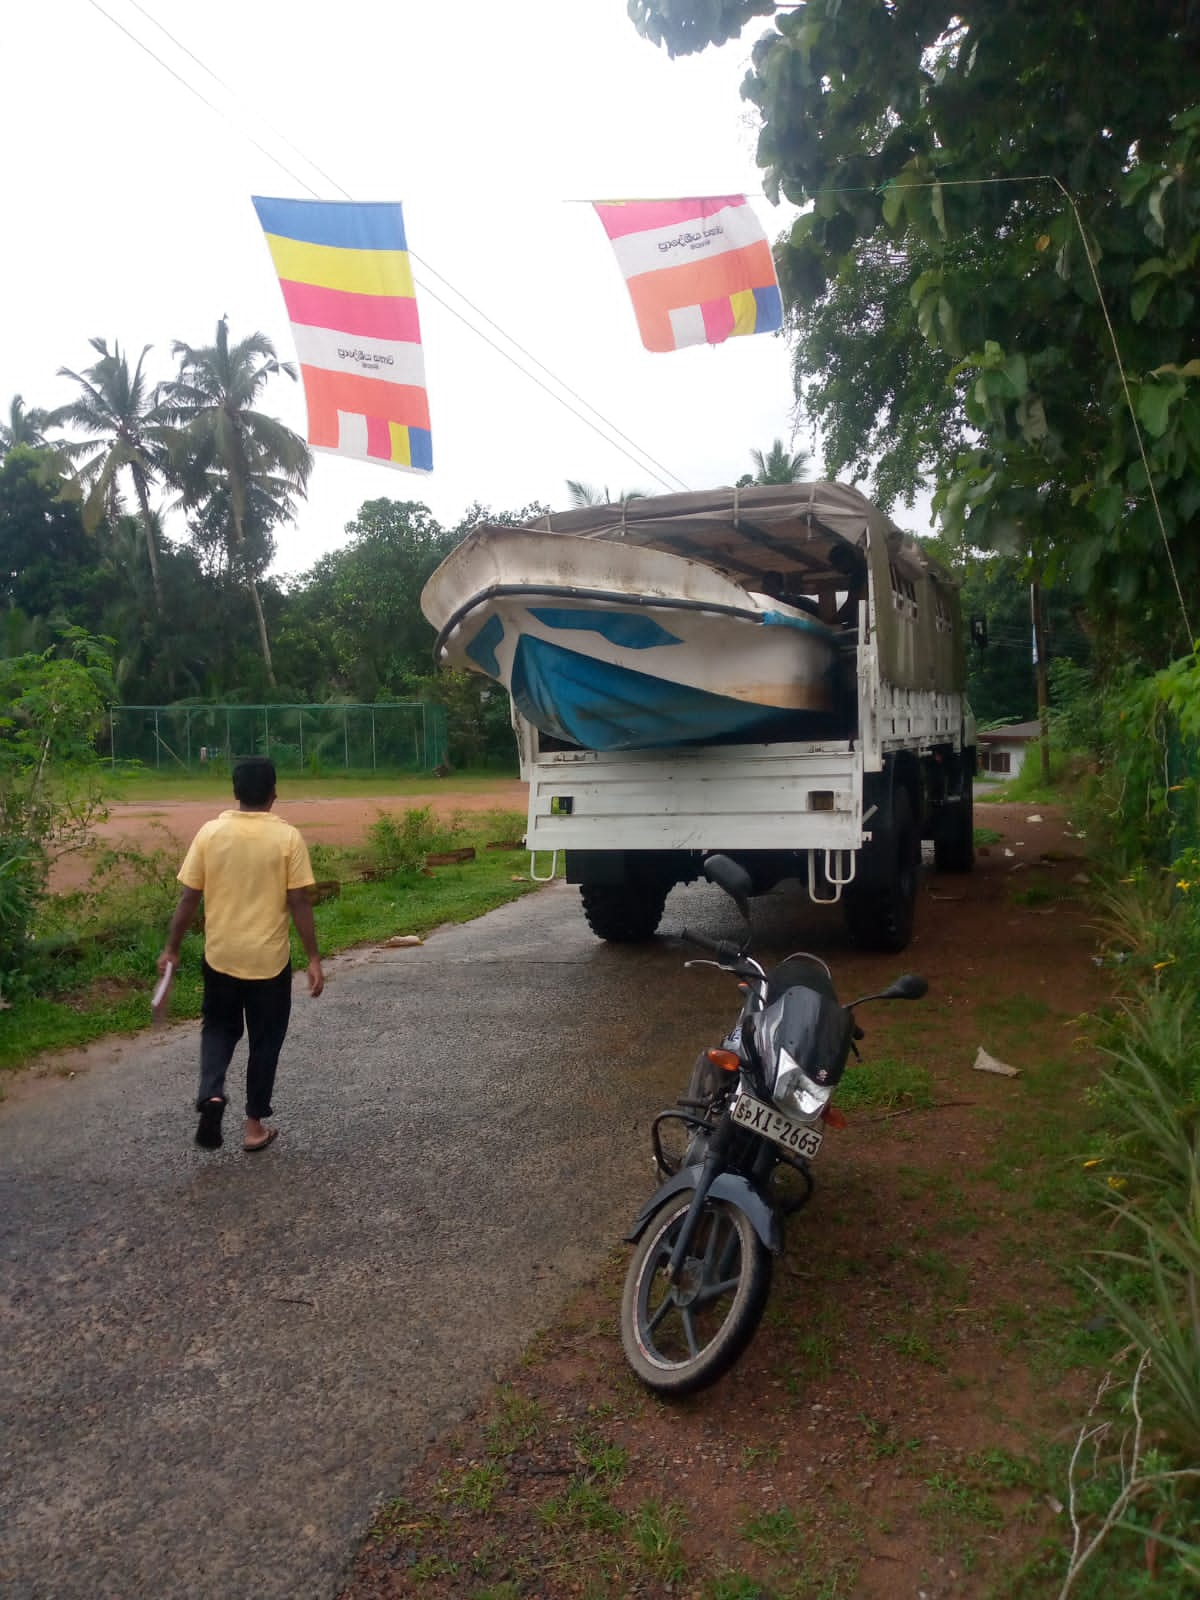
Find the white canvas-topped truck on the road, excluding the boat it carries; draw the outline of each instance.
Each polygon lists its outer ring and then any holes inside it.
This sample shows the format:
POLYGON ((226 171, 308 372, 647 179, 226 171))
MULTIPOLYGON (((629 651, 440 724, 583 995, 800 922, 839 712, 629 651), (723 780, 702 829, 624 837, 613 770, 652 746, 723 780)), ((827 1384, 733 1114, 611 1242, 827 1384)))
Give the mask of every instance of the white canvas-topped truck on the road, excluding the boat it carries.
MULTIPOLYGON (((522 714, 528 698, 512 688, 534 874, 549 877, 565 858, 592 931, 634 941, 654 934, 672 886, 722 851, 758 893, 800 878, 813 901, 842 904, 858 944, 904 949, 922 840, 933 840, 942 870, 974 861, 974 723, 955 582, 835 483, 648 498, 536 528, 669 550, 758 590, 758 602, 760 590, 781 595, 792 618, 811 613, 835 632, 837 682, 822 714, 781 717, 765 738, 666 749, 555 736, 522 714)), ((515 589, 498 581, 491 594, 515 589)), ((582 589, 562 594, 584 603, 582 589)), ((659 586, 645 603, 661 619, 662 606, 685 602, 664 600, 659 586)))

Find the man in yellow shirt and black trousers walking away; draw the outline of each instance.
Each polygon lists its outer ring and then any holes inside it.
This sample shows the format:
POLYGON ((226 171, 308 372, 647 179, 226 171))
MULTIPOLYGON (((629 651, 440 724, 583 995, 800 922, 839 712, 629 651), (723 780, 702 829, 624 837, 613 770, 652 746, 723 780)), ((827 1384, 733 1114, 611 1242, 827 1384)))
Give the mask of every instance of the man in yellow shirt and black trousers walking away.
POLYGON ((179 966, 179 946, 205 901, 205 997, 200 1029, 200 1123, 195 1142, 216 1150, 226 1114, 226 1072, 242 1038, 250 1035, 246 1062, 245 1150, 266 1150, 278 1134, 266 1128, 272 1115, 275 1066, 291 1016, 291 952, 288 912, 309 957, 309 994, 325 987, 312 902, 309 851, 299 832, 272 816, 275 766, 262 757, 234 768, 237 811, 205 822, 179 867, 182 893, 171 917, 158 971, 179 966))

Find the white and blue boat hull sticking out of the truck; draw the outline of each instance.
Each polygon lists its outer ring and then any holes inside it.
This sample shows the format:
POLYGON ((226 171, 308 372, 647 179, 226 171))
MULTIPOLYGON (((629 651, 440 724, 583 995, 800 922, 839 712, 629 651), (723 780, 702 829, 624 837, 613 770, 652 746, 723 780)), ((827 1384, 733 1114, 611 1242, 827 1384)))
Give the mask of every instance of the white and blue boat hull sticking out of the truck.
POLYGON ((586 749, 749 736, 832 707, 832 629, 662 550, 477 530, 422 608, 446 662, 586 749))

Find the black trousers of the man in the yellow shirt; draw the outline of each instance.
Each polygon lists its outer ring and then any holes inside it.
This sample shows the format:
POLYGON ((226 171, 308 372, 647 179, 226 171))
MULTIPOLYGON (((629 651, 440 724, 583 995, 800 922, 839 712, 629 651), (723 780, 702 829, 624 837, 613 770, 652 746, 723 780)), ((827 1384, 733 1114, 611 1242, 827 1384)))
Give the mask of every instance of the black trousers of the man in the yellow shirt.
POLYGON ((246 1117, 270 1115, 275 1066, 291 1018, 291 962, 275 978, 230 978, 203 963, 205 998, 200 1008, 200 1093, 205 1101, 226 1098, 226 1072, 242 1038, 242 1019, 250 1034, 246 1062, 246 1117))

